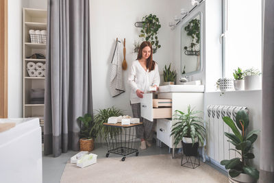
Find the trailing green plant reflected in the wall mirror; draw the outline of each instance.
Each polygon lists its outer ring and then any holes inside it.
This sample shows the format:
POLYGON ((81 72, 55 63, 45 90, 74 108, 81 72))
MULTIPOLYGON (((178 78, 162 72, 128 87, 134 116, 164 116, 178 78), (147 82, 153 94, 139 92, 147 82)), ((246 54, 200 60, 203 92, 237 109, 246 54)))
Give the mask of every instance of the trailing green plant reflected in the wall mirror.
POLYGON ((200 42, 200 20, 193 19, 184 27, 186 30, 186 35, 191 36, 192 40, 190 43, 190 46, 184 47, 185 50, 188 50, 188 48, 191 51, 199 51, 199 49, 196 49, 196 46, 199 45, 200 42))

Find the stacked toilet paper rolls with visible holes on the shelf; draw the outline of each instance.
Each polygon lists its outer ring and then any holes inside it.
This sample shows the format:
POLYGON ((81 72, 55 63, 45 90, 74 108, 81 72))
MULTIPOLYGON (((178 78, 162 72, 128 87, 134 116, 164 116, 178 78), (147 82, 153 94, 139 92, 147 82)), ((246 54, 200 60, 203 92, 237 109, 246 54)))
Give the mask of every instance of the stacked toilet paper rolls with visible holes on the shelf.
POLYGON ((45 77, 46 76, 46 64, 42 62, 28 62, 27 63, 27 73, 29 77, 45 77))

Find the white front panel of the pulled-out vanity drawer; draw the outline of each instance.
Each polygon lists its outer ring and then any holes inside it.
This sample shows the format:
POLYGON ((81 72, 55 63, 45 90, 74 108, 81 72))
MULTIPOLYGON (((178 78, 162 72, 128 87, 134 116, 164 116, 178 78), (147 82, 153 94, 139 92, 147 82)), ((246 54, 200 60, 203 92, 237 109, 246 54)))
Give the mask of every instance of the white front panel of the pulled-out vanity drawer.
POLYGON ((152 104, 152 93, 146 93, 140 100, 141 105, 141 117, 153 121, 153 104, 152 104))

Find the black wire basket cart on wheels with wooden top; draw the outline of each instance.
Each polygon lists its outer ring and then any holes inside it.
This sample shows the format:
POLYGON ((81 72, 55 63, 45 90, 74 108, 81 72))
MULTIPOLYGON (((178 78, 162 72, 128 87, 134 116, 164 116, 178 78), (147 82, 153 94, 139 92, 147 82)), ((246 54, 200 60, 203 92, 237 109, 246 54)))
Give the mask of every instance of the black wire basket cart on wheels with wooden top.
POLYGON ((103 125, 108 125, 110 127, 121 127, 121 133, 116 136, 108 135, 106 141, 108 144, 108 152, 105 157, 108 158, 110 153, 122 155, 122 161, 125 160, 126 156, 129 154, 134 154, 138 156, 138 147, 140 146, 140 130, 142 123, 121 125, 121 123, 108 124, 103 123, 103 125))

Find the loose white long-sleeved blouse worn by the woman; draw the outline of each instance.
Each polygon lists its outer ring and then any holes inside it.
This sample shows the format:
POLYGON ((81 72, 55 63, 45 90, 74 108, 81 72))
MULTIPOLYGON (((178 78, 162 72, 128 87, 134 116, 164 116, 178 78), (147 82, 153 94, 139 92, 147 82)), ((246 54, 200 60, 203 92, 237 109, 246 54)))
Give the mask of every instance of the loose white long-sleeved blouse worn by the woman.
POLYGON ((159 86, 160 84, 158 64, 155 64, 154 70, 149 72, 149 69, 145 71, 138 60, 134 60, 127 81, 132 88, 130 92, 131 103, 140 103, 140 98, 136 95, 136 90, 139 89, 147 93, 149 86, 159 86))

